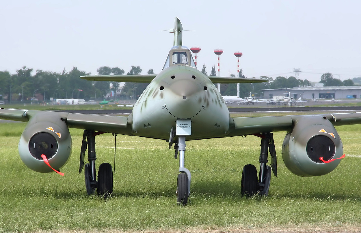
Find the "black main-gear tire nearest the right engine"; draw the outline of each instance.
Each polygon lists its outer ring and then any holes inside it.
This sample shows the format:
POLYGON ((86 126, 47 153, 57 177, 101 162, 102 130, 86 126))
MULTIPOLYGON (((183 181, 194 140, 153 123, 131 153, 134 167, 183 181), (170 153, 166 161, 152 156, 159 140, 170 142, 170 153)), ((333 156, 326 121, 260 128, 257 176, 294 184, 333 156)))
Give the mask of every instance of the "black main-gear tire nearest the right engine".
POLYGON ((241 194, 245 197, 253 197, 258 190, 257 169, 255 165, 247 164, 242 171, 241 194))

